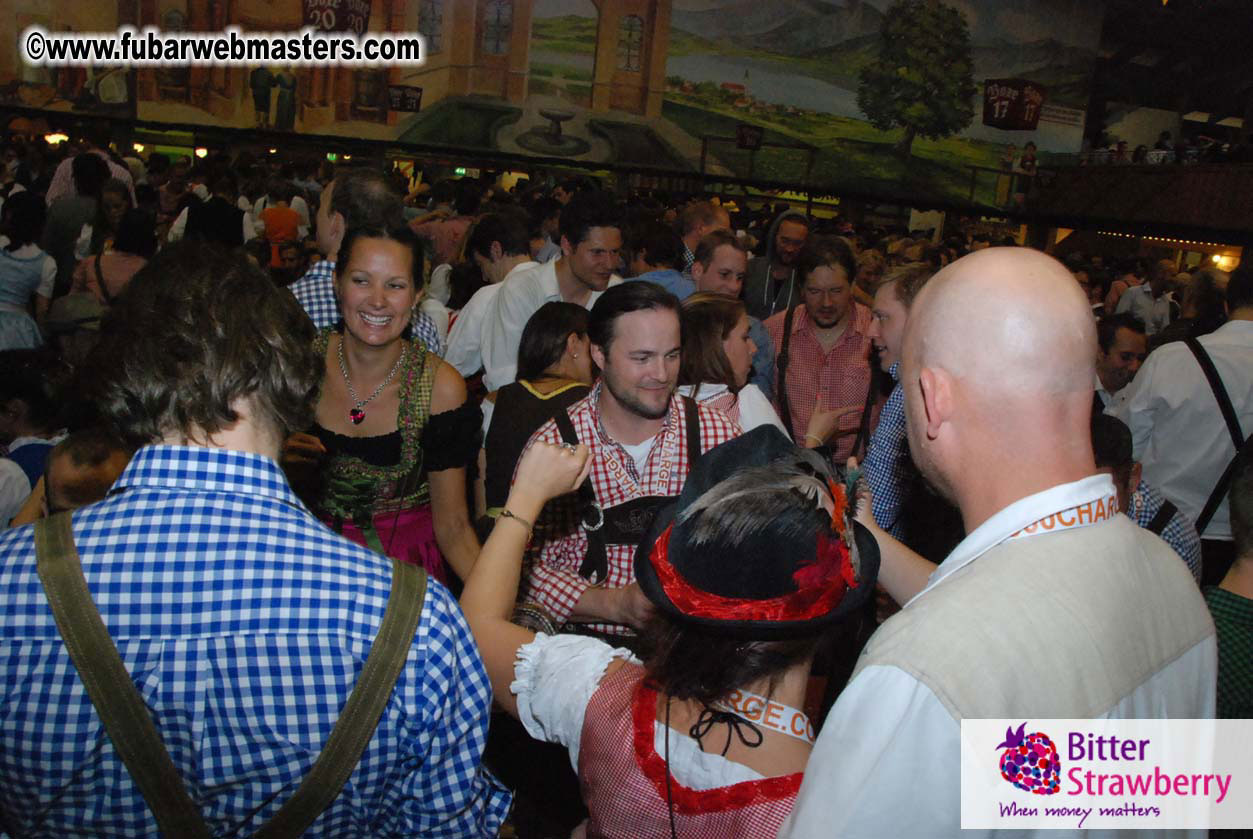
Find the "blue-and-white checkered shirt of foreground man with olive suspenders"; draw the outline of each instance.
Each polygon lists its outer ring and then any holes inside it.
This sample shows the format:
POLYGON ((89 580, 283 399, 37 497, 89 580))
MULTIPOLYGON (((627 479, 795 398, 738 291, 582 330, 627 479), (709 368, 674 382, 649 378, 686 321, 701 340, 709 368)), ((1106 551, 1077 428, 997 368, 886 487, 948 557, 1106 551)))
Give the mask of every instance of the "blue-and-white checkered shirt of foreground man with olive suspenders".
MULTIPOLYGON (((91 596, 214 835, 252 835, 331 734, 382 621, 391 569, 332 533, 267 457, 142 448, 74 513, 91 596)), ((0 533, 0 828, 154 836, 35 571, 0 533)), ((495 836, 510 795, 480 769, 491 686, 456 601, 427 585, 396 689, 307 836, 495 836)))

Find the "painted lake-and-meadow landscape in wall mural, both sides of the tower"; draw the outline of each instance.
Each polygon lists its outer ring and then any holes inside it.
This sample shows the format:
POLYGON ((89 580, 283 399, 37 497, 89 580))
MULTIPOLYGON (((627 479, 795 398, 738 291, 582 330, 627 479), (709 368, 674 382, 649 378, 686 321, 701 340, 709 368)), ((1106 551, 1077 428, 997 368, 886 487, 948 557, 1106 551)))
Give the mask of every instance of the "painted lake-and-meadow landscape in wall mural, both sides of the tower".
MULTIPOLYGON (((1041 164, 1079 150, 1101 15, 1085 0, 673 0, 660 115, 697 139, 764 129, 756 154, 709 142, 713 170, 945 200, 969 198, 974 180, 975 199, 995 203, 996 178, 969 167, 999 168, 1010 144, 1035 143, 1041 164), (885 25, 903 55, 881 55, 885 25), (881 58, 915 83, 880 84, 866 101, 881 58), (1044 88, 1034 130, 982 124, 987 79, 1044 88)), ((588 106, 596 26, 588 0, 536 0, 531 90, 588 106)))

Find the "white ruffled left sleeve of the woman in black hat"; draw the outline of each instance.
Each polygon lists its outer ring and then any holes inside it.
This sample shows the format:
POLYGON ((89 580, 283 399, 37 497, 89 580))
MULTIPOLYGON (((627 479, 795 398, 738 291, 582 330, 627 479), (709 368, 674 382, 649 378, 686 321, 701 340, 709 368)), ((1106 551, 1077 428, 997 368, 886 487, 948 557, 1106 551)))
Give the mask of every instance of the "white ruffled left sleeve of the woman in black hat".
POLYGON ((517 650, 509 686, 517 699, 517 719, 536 740, 564 745, 575 771, 583 716, 614 659, 635 660, 630 650, 583 635, 540 632, 517 650))

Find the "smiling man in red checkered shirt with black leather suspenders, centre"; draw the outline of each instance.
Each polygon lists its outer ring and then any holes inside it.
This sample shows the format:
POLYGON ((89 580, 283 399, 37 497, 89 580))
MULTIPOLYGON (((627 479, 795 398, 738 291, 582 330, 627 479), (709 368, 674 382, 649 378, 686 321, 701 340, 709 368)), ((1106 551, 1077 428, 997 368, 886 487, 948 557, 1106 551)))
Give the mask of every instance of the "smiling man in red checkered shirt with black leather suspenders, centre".
POLYGON ((679 301, 665 289, 610 288, 591 309, 588 334, 600 383, 531 441, 585 443, 591 473, 578 493, 544 508, 523 601, 555 626, 629 635, 652 611, 635 584, 635 547, 657 510, 679 495, 695 457, 741 430, 675 394, 679 301))

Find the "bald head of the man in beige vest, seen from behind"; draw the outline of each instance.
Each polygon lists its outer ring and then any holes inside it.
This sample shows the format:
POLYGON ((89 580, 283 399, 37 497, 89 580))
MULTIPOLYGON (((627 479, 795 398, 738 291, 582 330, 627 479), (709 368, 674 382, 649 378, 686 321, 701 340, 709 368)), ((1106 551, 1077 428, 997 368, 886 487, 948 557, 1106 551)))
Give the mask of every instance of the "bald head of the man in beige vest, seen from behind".
POLYGON ((918 293, 902 342, 918 467, 959 505, 962 482, 1090 473, 1095 357, 1091 309, 1061 263, 1027 248, 954 262, 918 293))

